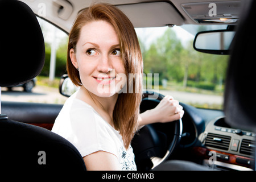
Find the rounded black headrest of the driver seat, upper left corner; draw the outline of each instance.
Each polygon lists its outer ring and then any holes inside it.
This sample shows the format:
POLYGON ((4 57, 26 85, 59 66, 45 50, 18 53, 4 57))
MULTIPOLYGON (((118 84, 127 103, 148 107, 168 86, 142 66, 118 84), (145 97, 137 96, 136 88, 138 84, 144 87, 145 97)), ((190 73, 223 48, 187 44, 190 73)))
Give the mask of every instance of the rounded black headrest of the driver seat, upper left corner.
POLYGON ((16 0, 0 0, 0 86, 22 84, 44 65, 44 39, 33 11, 16 0))

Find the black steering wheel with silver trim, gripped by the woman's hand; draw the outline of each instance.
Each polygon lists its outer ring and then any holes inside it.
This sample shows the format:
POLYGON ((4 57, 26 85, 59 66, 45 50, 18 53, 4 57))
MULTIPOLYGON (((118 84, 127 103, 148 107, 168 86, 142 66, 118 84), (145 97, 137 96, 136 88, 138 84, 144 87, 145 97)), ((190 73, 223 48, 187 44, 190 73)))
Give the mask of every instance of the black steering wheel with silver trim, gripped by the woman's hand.
MULTIPOLYGON (((153 102, 160 102, 162 99, 164 98, 164 96, 162 94, 159 94, 157 92, 150 92, 150 91, 144 91, 143 92, 143 98, 142 98, 142 102, 147 100, 147 102, 149 100, 153 101, 153 102)), ((138 131, 138 135, 137 138, 135 138, 131 145, 134 148, 134 154, 135 154, 135 162, 142 164, 143 163, 143 167, 139 167, 138 169, 142 169, 142 170, 150 170, 155 168, 156 166, 158 166, 159 164, 163 163, 166 159, 169 158, 169 156, 172 154, 172 152, 174 151, 175 147, 179 144, 180 139, 181 139, 181 134, 182 134, 182 120, 179 119, 177 121, 173 121, 173 122, 169 122, 172 123, 171 125, 174 126, 174 134, 173 134, 173 138, 170 141, 170 143, 167 144, 167 148, 164 147, 166 149, 165 151, 162 151, 163 148, 160 148, 158 146, 158 150, 161 151, 161 153, 164 155, 162 156, 154 156, 157 155, 156 153, 157 150, 155 151, 154 149, 157 148, 155 145, 157 145, 156 143, 158 143, 157 141, 161 140, 161 137, 159 136, 159 131, 156 131, 156 129, 154 128, 154 126, 152 125, 146 125, 144 126, 141 130, 138 131), (141 137, 143 139, 139 139, 138 138, 141 137), (150 139, 151 138, 151 139, 150 139), (152 142, 153 140, 153 142, 152 142), (156 142, 155 142, 156 141, 156 142), (142 142, 144 142, 142 144, 142 142), (149 146, 147 146, 147 144, 145 144, 145 142, 149 142, 149 146), (142 147, 142 146, 146 146, 146 147, 142 147), (150 146, 151 145, 151 146, 150 146), (139 148, 139 150, 138 150, 139 148), (142 157, 142 155, 144 155, 142 157), (139 156, 138 159, 137 157, 139 156)), ((168 125, 167 123, 159 123, 159 125, 168 125)), ((137 164, 138 167, 138 164, 137 164)))

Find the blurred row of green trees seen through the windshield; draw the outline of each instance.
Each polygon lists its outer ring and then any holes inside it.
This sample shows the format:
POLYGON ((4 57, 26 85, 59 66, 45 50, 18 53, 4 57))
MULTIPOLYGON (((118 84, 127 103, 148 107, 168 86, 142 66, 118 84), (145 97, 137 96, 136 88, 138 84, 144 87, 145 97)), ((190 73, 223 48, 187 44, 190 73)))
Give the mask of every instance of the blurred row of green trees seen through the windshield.
POLYGON ((193 49, 193 41, 184 47, 171 28, 148 49, 140 43, 144 73, 159 73, 159 81, 166 78, 182 83, 184 88, 223 89, 228 56, 197 52, 193 49))

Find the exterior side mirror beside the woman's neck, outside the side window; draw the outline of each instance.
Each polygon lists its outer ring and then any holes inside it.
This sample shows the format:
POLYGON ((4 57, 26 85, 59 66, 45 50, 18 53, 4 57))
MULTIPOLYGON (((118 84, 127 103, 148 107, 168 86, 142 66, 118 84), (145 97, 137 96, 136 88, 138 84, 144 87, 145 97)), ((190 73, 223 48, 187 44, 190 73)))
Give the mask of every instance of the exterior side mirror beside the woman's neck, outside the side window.
POLYGON ((66 97, 70 97, 80 87, 73 84, 68 75, 63 75, 60 79, 59 91, 60 94, 66 97))

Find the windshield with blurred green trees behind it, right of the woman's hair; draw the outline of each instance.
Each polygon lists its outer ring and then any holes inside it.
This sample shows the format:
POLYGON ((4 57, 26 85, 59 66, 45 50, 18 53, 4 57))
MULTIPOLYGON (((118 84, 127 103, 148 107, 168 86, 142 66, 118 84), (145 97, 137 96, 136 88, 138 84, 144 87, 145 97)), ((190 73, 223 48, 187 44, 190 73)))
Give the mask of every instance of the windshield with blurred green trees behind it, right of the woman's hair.
POLYGON ((209 30, 209 27, 185 29, 191 32, 176 26, 136 28, 144 61, 144 89, 169 94, 192 106, 223 109, 229 56, 193 49, 194 30, 209 30))

